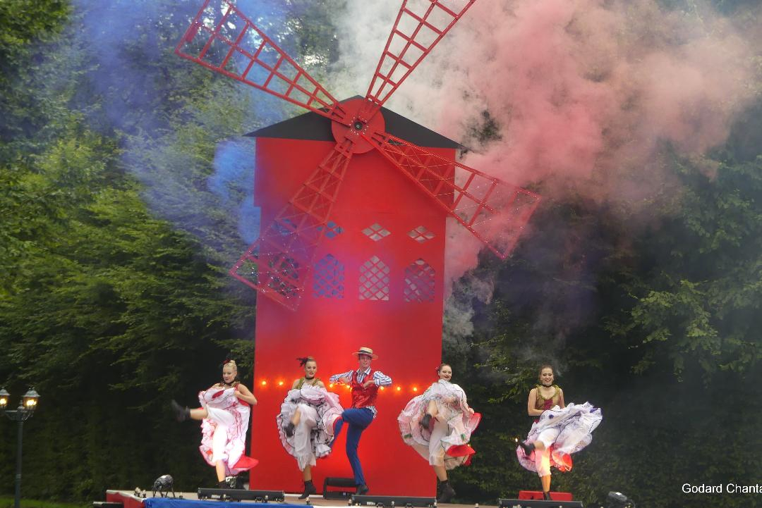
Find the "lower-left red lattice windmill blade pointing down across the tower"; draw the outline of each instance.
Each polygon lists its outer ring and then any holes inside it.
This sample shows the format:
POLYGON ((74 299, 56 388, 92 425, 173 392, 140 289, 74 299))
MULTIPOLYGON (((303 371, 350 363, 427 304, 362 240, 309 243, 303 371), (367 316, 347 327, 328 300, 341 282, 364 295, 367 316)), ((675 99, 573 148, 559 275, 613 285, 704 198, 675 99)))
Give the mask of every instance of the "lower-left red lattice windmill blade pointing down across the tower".
POLYGON ((352 158, 351 148, 351 141, 336 144, 230 275, 292 310, 299 306, 352 158))

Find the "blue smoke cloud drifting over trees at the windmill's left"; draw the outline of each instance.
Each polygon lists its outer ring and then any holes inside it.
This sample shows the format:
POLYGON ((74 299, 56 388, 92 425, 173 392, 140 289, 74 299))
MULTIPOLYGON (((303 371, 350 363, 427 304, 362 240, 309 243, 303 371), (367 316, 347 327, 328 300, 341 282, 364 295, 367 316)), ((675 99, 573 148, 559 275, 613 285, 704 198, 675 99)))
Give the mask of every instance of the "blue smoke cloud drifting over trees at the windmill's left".
MULTIPOLYGON (((230 83, 222 75, 211 79, 208 97, 204 95, 209 103, 197 101, 191 107, 189 97, 178 97, 176 90, 192 90, 194 97, 204 94, 193 85, 202 79, 197 77, 200 72, 211 73, 174 55, 202 3, 74 0, 72 44, 85 57, 72 65, 82 65, 88 78, 80 107, 94 129, 120 137, 123 165, 145 186, 143 196, 155 214, 194 234, 229 263, 259 231, 259 210, 252 197, 254 142, 239 136, 292 113, 285 101, 230 83), (177 85, 171 80, 178 80, 177 85), (100 97, 102 110, 88 109, 89 94, 100 97), (241 125, 219 120, 227 106, 242 118, 241 125), (216 116, 209 115, 210 110, 216 116), (210 155, 196 153, 190 135, 219 140, 213 164, 203 164, 210 155)), ((283 49, 297 54, 289 24, 294 13, 286 2, 237 4, 283 49)))

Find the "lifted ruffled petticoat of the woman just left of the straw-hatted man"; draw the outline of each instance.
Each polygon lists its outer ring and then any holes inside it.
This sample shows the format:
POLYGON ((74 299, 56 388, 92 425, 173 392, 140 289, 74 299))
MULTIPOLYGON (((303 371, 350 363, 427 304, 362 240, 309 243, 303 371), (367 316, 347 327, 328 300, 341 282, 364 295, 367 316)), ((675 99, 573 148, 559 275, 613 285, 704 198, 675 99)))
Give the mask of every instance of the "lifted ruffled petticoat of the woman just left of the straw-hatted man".
POLYGON ((343 412, 338 395, 325 388, 305 385, 289 390, 275 420, 280 443, 296 459, 300 471, 331 453, 328 443, 334 438, 334 424, 343 412), (293 436, 287 437, 283 427, 291 421, 296 408, 301 414, 299 424, 293 436))

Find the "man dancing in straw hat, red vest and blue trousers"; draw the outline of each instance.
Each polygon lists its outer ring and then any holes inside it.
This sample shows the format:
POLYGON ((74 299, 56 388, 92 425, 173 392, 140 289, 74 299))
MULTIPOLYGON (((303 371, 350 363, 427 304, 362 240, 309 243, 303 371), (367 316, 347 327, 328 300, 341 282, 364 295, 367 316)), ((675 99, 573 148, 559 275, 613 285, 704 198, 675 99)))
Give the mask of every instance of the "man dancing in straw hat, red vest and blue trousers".
POLYGON ((341 374, 331 376, 331 383, 345 383, 352 387, 352 407, 345 409, 341 414, 341 420, 337 420, 334 430, 334 439, 338 437, 341 426, 344 421, 349 424, 347 430, 347 459, 352 466, 354 473, 354 484, 357 485, 355 494, 367 494, 368 485, 363 476, 363 467, 360 465, 360 458, 357 456, 357 446, 360 444, 360 435, 363 430, 376 418, 376 395, 378 395, 379 386, 389 386, 392 384, 392 378, 379 370, 370 369, 370 360, 376 360, 379 356, 373 354, 370 348, 360 348, 355 351, 359 368, 350 370, 341 374))

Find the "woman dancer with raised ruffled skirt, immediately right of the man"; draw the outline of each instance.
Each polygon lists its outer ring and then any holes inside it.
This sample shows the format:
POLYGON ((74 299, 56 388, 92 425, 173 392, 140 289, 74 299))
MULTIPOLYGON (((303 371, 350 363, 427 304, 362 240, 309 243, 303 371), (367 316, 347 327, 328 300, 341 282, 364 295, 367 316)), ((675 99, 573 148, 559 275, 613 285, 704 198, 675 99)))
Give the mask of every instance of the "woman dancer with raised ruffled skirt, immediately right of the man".
POLYGON ((482 415, 469 408, 463 389, 450 383, 450 365, 440 364, 437 375, 439 380, 408 402, 397 421, 402 440, 427 459, 437 474, 437 503, 449 503, 455 491, 447 470, 470 464, 475 451, 468 443, 482 415))

